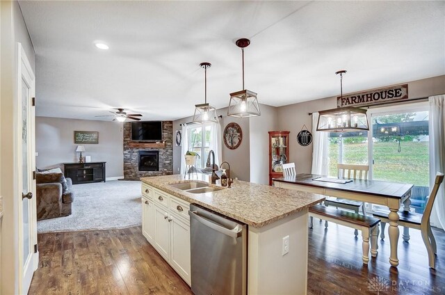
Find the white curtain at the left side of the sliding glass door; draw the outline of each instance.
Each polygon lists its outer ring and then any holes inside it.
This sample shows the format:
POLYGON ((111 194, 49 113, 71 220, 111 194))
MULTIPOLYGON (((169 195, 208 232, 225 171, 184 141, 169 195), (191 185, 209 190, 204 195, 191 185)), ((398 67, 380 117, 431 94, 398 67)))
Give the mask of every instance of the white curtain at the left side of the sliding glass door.
MULTIPOLYGON (((327 175, 329 158, 327 157, 328 132, 316 131, 318 123, 318 112, 312 113, 312 174, 327 175)), ((322 118, 322 120, 325 118, 322 118)), ((321 122, 326 123, 326 122, 321 122)))

